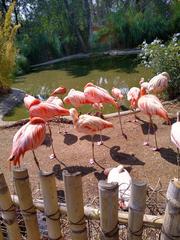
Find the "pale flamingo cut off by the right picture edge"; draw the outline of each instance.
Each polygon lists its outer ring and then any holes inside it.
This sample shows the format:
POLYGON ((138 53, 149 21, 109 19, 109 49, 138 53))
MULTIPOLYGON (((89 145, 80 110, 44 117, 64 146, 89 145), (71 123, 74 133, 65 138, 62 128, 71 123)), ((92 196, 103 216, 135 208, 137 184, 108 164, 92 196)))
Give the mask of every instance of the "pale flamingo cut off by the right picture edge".
POLYGON ((179 166, 180 166, 180 112, 177 112, 177 122, 171 126, 171 141, 176 145, 177 148, 177 165, 178 165, 178 180, 180 178, 179 166))

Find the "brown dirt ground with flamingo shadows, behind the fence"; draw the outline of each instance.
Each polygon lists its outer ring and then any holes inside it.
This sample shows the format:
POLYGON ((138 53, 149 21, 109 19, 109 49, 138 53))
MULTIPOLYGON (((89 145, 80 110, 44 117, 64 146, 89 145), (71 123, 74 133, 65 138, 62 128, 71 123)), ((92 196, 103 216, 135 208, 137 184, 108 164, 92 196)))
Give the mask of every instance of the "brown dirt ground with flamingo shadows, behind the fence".
MULTIPOLYGON (((171 122, 176 121, 176 112, 180 110, 180 103, 168 104, 165 106, 171 122)), ((121 135, 118 117, 109 118, 114 125, 113 129, 103 131, 104 145, 95 144, 96 161, 103 167, 109 168, 123 164, 134 179, 146 181, 150 186, 155 187, 158 180, 162 184, 163 192, 166 192, 170 179, 177 176, 176 148, 170 140, 171 127, 164 123, 163 119, 153 117, 159 151, 152 151, 154 137, 150 135, 151 146, 143 146, 147 138, 148 117, 137 113, 138 122, 133 122, 132 114, 122 116, 122 124, 127 139, 121 135)), ((58 133, 57 123, 51 123, 53 143, 57 157, 65 165, 59 164, 56 159, 50 160, 52 153, 50 147, 44 145, 36 150, 40 167, 44 171, 54 171, 59 194, 63 197, 64 186, 62 171, 81 171, 84 202, 90 203, 98 195, 98 181, 105 179, 103 169, 96 164, 91 165, 91 138, 76 132, 72 124, 66 124, 67 134, 58 133)), ((20 126, 19 126, 20 127, 20 126)), ((12 171, 9 170, 7 159, 10 155, 12 139, 19 127, 0 129, 0 162, 1 171, 4 173, 10 191, 14 193, 12 171)), ((99 141, 99 135, 95 141, 99 141)), ((27 152, 21 161, 22 166, 29 171, 30 182, 33 194, 39 188, 38 169, 33 160, 31 151, 27 152)))

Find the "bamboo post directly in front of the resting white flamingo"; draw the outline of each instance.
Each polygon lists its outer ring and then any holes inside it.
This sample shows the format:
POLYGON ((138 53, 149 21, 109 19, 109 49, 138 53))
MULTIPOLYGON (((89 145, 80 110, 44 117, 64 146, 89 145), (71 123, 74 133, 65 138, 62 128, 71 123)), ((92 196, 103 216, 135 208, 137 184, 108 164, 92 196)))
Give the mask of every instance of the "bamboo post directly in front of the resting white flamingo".
POLYGON ((118 184, 99 181, 100 225, 102 240, 118 240, 118 184))

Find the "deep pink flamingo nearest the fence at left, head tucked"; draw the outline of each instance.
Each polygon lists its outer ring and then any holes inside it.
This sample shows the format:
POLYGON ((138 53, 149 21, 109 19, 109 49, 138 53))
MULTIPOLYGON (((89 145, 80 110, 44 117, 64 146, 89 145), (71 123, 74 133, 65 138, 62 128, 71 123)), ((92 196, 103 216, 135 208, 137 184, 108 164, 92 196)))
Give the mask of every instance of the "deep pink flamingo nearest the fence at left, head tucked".
POLYGON ((14 135, 13 145, 9 161, 20 167, 20 159, 25 152, 32 150, 35 163, 40 170, 39 162, 34 149, 38 148, 44 141, 46 135, 46 122, 40 117, 31 118, 28 123, 22 126, 14 135))

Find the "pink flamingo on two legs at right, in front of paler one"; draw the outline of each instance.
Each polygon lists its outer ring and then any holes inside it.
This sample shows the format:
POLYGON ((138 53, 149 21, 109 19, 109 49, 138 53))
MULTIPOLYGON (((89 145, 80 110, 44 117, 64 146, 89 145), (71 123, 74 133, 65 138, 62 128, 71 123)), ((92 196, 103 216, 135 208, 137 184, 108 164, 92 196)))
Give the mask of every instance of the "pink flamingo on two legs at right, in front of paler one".
MULTIPOLYGON (((138 100, 138 107, 139 109, 149 116, 150 122, 149 122, 149 129, 148 129, 148 141, 144 142, 144 145, 149 145, 149 133, 150 133, 150 127, 153 127, 153 121, 152 116, 157 115, 163 119, 165 119, 167 122, 169 122, 169 117, 167 111, 164 109, 162 103, 160 100, 152 95, 144 95, 144 89, 141 89, 141 97, 138 100)), ((157 146, 157 138, 156 138, 156 132, 154 133, 155 138, 155 145, 156 147, 153 148, 154 151, 158 150, 157 146)))

